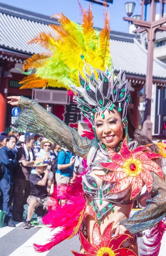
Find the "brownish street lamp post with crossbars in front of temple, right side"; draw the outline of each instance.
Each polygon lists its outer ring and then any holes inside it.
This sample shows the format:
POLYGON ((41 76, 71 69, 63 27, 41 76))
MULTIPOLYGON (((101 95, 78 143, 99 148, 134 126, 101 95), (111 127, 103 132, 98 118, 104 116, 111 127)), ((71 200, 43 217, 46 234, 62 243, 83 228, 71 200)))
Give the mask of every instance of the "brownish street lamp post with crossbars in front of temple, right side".
MULTIPOLYGON (((128 2, 129 3, 129 2, 128 2)), ((146 70, 146 86, 145 86, 145 113, 142 133, 145 134, 149 139, 152 139, 152 122, 150 120, 151 114, 151 100, 152 100, 152 82, 153 82, 153 55, 155 47, 155 34, 157 30, 164 31, 166 26, 166 17, 163 17, 163 5, 166 0, 142 0, 142 11, 140 20, 136 18, 123 17, 123 20, 129 21, 136 27, 140 27, 136 32, 143 33, 147 32, 148 39, 148 56, 147 56, 147 70, 146 70), (160 19, 155 20, 156 15, 156 3, 160 2, 160 19), (143 20, 144 6, 150 4, 150 18, 149 21, 143 20)), ((127 4, 127 3, 126 3, 127 4)), ((126 7, 126 5, 125 5, 126 7)), ((133 10, 134 11, 134 10, 133 10)))

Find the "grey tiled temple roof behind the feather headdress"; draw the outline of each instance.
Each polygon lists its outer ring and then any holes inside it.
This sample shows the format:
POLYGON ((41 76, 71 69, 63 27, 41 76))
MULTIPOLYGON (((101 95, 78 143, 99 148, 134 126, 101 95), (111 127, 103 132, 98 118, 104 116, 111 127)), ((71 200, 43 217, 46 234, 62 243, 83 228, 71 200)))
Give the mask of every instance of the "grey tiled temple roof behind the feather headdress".
MULTIPOLYGON (((45 51, 39 45, 27 45, 27 42, 38 32, 52 32, 49 23, 57 24, 57 21, 0 3, 0 48, 25 55, 45 51)), ((129 74, 145 76, 147 50, 139 43, 140 37, 112 31, 110 40, 115 70, 122 67, 129 74)), ((154 59, 153 76, 166 79, 166 64, 154 59)))

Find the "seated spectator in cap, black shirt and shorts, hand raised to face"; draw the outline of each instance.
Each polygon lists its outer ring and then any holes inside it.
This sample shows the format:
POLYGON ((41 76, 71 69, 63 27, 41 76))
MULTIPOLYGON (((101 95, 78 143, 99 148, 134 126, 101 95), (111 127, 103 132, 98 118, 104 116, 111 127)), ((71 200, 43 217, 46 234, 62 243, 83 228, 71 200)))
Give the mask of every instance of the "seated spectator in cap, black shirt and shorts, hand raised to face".
MULTIPOLYGON (((34 210, 39 205, 43 205, 47 209, 47 204, 50 199, 47 191, 47 179, 49 175, 49 170, 47 169, 48 164, 44 163, 43 159, 38 158, 37 160, 34 161, 33 167, 35 168, 35 172, 31 173, 29 176, 31 194, 27 199, 28 212, 26 223, 24 225, 25 229, 29 229, 31 227, 30 222, 34 210)), ((52 193, 53 190, 54 183, 52 183, 52 187, 49 192, 52 193)))

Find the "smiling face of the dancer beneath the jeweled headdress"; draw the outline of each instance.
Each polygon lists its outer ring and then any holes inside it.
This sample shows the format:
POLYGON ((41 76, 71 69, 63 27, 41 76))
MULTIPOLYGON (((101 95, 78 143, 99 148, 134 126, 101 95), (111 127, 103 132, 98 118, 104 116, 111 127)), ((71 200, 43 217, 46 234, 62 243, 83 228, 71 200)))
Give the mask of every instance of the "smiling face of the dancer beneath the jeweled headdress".
POLYGON ((101 112, 95 113, 94 122, 98 139, 109 148, 115 148, 123 137, 123 123, 118 111, 104 111, 105 118, 101 112))

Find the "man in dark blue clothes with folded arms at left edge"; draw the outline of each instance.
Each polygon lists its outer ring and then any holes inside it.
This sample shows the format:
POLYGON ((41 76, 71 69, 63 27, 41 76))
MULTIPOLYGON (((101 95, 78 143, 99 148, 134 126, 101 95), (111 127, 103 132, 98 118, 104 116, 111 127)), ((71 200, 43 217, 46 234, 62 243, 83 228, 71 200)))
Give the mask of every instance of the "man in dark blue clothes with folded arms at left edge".
POLYGON ((17 160, 12 149, 17 143, 17 138, 10 135, 6 139, 6 146, 0 149, 0 163, 3 163, 4 171, 0 174, 0 208, 6 212, 5 222, 9 227, 15 227, 10 212, 11 197, 13 192, 13 169, 17 166, 17 160))

